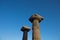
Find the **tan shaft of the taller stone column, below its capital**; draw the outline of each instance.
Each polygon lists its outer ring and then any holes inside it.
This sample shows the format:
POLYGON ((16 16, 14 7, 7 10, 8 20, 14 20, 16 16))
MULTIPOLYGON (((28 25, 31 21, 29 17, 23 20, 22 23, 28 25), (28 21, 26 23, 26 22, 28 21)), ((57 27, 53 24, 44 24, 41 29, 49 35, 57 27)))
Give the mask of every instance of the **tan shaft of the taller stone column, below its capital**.
POLYGON ((37 19, 32 23, 32 40, 40 40, 39 21, 37 19))

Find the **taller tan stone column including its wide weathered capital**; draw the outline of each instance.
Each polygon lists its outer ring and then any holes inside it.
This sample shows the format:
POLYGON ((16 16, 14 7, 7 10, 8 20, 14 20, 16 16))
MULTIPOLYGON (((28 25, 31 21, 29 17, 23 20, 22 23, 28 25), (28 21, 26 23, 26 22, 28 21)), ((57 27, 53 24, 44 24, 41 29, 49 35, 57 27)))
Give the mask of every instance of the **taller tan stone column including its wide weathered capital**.
POLYGON ((29 18, 32 23, 32 40, 40 40, 40 27, 39 23, 43 20, 42 16, 34 14, 29 18))

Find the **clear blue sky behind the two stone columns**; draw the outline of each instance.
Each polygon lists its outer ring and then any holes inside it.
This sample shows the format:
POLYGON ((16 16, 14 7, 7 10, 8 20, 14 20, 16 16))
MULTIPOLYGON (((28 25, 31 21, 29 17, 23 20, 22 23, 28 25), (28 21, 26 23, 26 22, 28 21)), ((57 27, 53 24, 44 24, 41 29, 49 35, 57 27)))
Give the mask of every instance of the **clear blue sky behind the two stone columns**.
MULTIPOLYGON (((38 13, 41 40, 60 40, 60 0, 0 0, 0 40, 22 40, 23 25, 32 28, 29 17, 38 13)), ((29 32, 32 40, 32 31, 29 32)))

